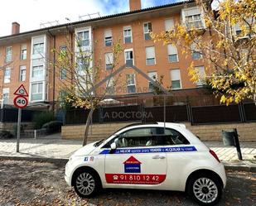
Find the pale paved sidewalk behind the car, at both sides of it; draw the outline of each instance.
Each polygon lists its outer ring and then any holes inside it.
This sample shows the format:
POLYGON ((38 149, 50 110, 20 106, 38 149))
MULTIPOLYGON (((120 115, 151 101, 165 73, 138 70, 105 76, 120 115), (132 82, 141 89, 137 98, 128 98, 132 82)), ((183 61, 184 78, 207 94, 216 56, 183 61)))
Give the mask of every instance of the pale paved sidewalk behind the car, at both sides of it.
MULTIPOLYGON (((245 161, 239 161, 233 146, 223 146, 221 141, 205 141, 205 144, 216 152, 220 160, 225 163, 247 162, 256 166, 256 142, 240 143, 245 161)), ((0 140, 1 156, 18 156, 34 158, 68 159, 70 155, 82 145, 81 141, 62 140, 59 136, 40 139, 21 139, 20 152, 16 152, 16 139, 0 140)))

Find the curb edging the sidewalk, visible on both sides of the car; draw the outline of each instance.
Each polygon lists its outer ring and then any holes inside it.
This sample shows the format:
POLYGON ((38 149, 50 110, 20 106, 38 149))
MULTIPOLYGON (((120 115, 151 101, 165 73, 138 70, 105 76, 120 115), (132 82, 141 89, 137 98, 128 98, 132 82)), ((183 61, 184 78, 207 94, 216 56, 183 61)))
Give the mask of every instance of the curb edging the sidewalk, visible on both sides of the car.
MULTIPOLYGON (((54 164, 65 165, 69 159, 65 158, 48 158, 48 157, 31 157, 31 156, 0 156, 0 160, 27 160, 27 161, 39 161, 39 162, 49 162, 54 164)), ((256 164, 230 164, 222 162, 225 166, 225 170, 234 171, 246 171, 246 172, 256 172, 256 164)))

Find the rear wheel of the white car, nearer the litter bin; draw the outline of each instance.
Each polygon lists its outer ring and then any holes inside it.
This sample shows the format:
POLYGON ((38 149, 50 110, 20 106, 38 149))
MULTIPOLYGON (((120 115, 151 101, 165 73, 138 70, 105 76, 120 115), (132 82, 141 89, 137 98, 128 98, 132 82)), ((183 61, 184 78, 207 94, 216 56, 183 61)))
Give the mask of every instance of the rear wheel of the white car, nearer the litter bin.
POLYGON ((215 175, 196 174, 188 181, 187 192, 200 205, 215 205, 220 200, 222 186, 215 175))

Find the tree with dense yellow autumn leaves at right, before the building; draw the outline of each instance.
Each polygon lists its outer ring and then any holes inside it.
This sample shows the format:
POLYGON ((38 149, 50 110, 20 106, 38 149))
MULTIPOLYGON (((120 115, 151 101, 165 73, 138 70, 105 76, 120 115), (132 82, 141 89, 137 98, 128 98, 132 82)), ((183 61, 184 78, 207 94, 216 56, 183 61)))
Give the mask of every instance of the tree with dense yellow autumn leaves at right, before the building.
POLYGON ((206 72, 201 74, 192 61, 188 68, 191 80, 208 84, 220 96, 220 103, 239 103, 247 98, 256 103, 256 2, 218 1, 215 10, 209 1, 196 3, 203 13, 202 22, 188 18, 185 24, 152 34, 152 38, 176 45, 187 56, 202 58, 206 72))

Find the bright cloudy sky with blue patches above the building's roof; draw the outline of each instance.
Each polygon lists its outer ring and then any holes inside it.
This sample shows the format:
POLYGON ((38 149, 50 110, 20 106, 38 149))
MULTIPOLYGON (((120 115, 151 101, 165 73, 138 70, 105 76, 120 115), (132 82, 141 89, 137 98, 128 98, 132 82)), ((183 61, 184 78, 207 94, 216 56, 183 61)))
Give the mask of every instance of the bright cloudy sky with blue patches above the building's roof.
MULTIPOLYGON (((181 0, 141 1, 145 8, 181 0)), ((76 22, 88 13, 99 12, 103 17, 129 10, 128 0, 1 0, 1 7, 0 36, 11 35, 12 22, 18 22, 23 32, 39 29, 45 22, 68 23, 66 18, 76 22)))

